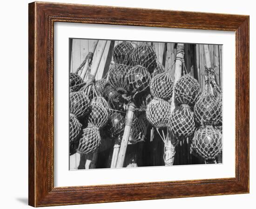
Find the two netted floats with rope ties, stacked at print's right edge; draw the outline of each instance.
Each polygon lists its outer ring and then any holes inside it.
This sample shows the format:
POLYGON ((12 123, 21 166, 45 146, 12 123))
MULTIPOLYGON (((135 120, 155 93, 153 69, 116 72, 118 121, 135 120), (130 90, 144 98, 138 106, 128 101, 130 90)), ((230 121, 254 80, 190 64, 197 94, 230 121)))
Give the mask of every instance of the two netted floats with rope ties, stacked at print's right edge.
POLYGON ((191 152, 205 160, 216 161, 222 151, 222 92, 216 82, 214 68, 205 67, 206 85, 195 103, 195 121, 199 126, 192 139, 191 152), (216 89, 218 89, 216 91, 216 89))

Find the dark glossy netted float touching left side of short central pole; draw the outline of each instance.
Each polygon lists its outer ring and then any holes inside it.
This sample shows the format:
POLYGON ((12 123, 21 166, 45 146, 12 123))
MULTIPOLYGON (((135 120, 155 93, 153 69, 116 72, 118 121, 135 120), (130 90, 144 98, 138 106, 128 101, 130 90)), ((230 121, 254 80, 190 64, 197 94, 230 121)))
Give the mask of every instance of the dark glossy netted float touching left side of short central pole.
POLYGON ((122 136, 125 126, 125 116, 117 111, 112 111, 108 119, 108 129, 112 137, 122 136))

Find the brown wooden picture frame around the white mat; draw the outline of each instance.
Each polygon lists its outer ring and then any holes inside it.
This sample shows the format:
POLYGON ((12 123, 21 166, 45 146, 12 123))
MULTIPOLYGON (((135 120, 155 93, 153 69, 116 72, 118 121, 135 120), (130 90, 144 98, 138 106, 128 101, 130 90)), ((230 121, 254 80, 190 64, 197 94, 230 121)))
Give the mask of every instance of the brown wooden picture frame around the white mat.
POLYGON ((29 4, 29 205, 249 193, 249 16, 110 6, 29 4), (236 177, 54 187, 54 22, 236 32, 236 177))

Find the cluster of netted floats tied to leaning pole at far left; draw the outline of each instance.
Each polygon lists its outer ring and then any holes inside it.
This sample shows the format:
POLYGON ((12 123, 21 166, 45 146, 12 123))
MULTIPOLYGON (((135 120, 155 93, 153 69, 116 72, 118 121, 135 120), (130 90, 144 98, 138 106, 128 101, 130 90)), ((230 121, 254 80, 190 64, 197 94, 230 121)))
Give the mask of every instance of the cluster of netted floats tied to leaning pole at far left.
MULTIPOLYGON (((70 147, 72 147, 72 151, 75 149, 76 152, 81 154, 88 154, 97 150, 101 142, 100 129, 103 128, 108 121, 109 108, 106 106, 108 103, 107 101, 103 101, 104 98, 96 99, 98 98, 98 89, 95 87, 94 80, 107 41, 95 42, 93 51, 95 51, 97 44, 99 44, 99 48, 102 47, 100 56, 96 57, 93 62, 93 52, 89 52, 76 72, 70 73, 69 76, 69 110, 70 118, 72 118, 69 124, 70 147), (84 68, 86 63, 88 63, 88 67, 84 68), (87 82, 82 82, 83 79, 78 75, 78 71, 80 70, 82 70, 81 75, 86 74, 83 70, 90 73, 88 74, 87 82), (92 95, 90 95, 91 92, 93 92, 92 95), (93 102, 92 99, 94 99, 93 102), (81 130, 82 127, 83 130, 81 134, 78 134, 78 130, 81 130), (77 137, 74 138, 74 135, 77 137)), ((70 154, 72 153, 70 152, 70 154)))

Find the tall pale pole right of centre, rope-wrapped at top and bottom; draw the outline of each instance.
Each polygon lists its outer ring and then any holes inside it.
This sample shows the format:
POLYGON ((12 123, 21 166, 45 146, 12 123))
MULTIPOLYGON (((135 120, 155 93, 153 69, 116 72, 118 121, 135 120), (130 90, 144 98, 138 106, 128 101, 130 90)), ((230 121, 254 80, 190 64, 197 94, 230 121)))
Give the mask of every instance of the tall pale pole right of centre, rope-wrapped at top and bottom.
MULTIPOLYGON (((175 80, 174 85, 182 76, 182 59, 184 58, 184 44, 177 44, 177 53, 176 53, 176 61, 175 61, 175 80)), ((171 113, 175 109, 174 102, 174 91, 171 99, 171 113)), ((175 156, 175 144, 172 139, 171 133, 168 131, 165 141, 165 165, 173 165, 175 156)))

